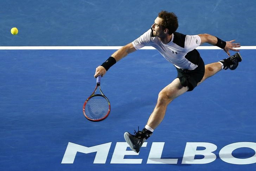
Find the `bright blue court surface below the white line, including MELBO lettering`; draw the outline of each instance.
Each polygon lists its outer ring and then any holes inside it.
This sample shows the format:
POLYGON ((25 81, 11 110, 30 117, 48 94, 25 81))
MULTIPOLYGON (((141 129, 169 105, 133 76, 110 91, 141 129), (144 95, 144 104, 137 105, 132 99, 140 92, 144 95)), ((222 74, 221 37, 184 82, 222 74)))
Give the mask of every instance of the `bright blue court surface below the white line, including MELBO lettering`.
MULTIPOLYGON (((139 155, 126 148, 123 133, 145 126, 177 72, 156 50, 130 54, 101 80, 110 115, 91 122, 83 103, 95 68, 114 51, 0 50, 0 170, 255 169, 256 50, 241 50, 235 71, 220 71, 175 99, 139 155)), ((199 52, 205 64, 226 58, 222 50, 199 52)))

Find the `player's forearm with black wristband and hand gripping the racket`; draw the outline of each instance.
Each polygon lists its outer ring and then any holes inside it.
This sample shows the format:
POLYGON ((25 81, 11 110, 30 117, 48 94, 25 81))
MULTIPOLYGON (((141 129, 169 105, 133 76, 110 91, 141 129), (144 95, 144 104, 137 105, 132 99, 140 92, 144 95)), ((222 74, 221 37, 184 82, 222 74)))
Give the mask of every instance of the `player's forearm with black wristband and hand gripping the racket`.
POLYGON ((105 73, 108 71, 108 69, 113 66, 117 61, 128 55, 129 53, 132 53, 136 51, 136 49, 133 47, 132 43, 129 43, 123 47, 121 47, 119 50, 114 52, 111 57, 109 57, 102 65, 98 66, 96 68, 94 77, 98 77, 98 75, 105 75, 105 73))

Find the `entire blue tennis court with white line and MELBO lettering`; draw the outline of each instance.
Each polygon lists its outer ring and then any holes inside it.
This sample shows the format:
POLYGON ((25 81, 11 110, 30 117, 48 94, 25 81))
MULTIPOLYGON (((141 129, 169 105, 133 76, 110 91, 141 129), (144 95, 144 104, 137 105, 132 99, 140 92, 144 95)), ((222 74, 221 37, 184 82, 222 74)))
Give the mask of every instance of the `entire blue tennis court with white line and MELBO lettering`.
MULTIPOLYGON (((255 170, 254 1, 1 0, 0 14, 0 170, 255 170), (172 101, 137 154, 123 133, 143 129, 177 76, 158 51, 129 54, 101 79, 111 103, 105 120, 87 120, 82 107, 95 68, 161 10, 178 16, 180 33, 236 39, 243 61, 172 101)), ((205 64, 227 57, 200 47, 205 64)))

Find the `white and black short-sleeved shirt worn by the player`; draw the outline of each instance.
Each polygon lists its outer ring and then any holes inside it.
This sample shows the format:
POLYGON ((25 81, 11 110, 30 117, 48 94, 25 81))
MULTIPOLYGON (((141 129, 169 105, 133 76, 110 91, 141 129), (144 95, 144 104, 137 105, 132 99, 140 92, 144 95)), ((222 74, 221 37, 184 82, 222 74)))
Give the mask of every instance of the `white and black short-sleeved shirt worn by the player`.
POLYGON ((195 48, 201 44, 199 35, 184 35, 174 32, 172 40, 168 44, 164 44, 159 37, 153 37, 152 29, 149 29, 135 39, 132 44, 136 50, 143 46, 153 46, 177 68, 194 70, 198 67, 196 58, 199 53, 195 48))

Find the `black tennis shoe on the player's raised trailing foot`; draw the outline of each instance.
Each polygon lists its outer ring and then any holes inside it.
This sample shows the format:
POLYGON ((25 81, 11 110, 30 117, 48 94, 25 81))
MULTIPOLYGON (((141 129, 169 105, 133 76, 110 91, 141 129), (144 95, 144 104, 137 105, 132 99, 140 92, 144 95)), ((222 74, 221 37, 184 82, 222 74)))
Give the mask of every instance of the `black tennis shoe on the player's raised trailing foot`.
POLYGON ((230 56, 229 58, 220 60, 221 63, 223 63, 223 69, 227 70, 228 68, 230 70, 235 70, 238 66, 238 63, 242 61, 241 55, 237 52, 236 54, 230 56))

